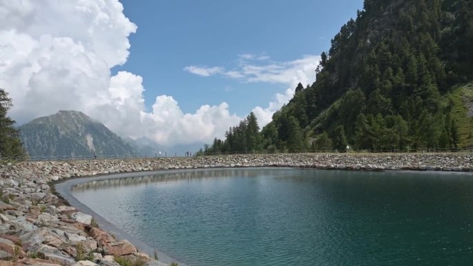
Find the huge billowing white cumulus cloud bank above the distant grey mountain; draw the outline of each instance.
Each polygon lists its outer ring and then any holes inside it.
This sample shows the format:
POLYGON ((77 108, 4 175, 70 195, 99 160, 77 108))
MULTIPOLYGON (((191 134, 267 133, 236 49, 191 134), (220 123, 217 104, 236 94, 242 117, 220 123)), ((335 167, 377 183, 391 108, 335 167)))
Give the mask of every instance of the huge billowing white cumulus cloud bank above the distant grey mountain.
POLYGON ((14 101, 10 115, 23 123, 59 109, 83 111, 120 135, 165 145, 208 142, 239 122, 226 103, 184 114, 166 95, 146 112, 142 77, 110 72, 127 61, 136 28, 118 0, 0 0, 0 87, 14 101))

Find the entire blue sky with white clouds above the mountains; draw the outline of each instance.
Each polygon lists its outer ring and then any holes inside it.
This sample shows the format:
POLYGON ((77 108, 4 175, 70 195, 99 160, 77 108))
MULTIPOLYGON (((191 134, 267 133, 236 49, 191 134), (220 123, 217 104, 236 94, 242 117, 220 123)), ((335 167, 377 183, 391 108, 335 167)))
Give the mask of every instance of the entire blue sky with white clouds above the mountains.
POLYGON ((0 88, 24 124, 82 111, 165 146, 262 127, 362 0, 0 0, 0 88))

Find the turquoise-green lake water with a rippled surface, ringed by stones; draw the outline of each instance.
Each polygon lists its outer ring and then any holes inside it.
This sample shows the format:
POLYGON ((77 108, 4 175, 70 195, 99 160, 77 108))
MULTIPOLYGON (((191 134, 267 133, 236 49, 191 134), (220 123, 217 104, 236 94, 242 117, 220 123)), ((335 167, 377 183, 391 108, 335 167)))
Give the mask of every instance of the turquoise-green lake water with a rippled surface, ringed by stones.
POLYGON ((74 196, 187 265, 471 265, 473 176, 217 169, 74 196))

